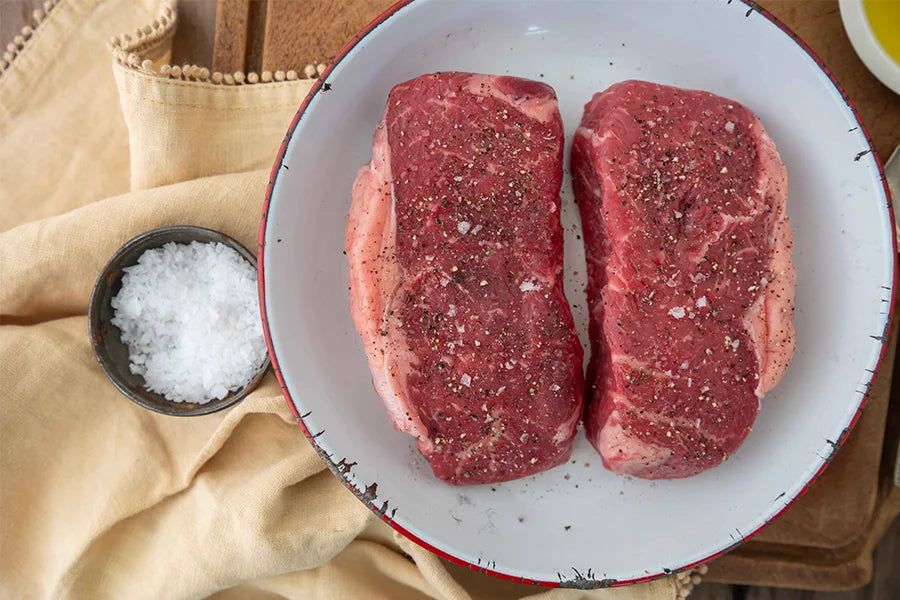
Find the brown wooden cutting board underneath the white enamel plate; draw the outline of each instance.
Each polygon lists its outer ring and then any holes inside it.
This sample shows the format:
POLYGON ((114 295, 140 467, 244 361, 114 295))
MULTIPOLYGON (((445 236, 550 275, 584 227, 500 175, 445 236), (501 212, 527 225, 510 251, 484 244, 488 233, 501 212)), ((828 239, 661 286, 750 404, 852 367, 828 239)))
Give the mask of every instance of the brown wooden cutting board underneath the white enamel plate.
MULTIPOLYGON (((329 62, 391 4, 391 0, 220 0, 213 69, 302 73, 308 64, 329 62)), ((822 57, 855 101, 885 160, 900 143, 900 96, 879 83, 853 52, 837 1, 760 4, 822 57)), ((891 485, 900 436, 897 399, 885 437, 896 342, 895 331, 865 411, 832 464, 777 521, 713 561, 707 579, 828 590, 861 586, 871 578, 872 549, 900 512, 900 488, 891 485)))

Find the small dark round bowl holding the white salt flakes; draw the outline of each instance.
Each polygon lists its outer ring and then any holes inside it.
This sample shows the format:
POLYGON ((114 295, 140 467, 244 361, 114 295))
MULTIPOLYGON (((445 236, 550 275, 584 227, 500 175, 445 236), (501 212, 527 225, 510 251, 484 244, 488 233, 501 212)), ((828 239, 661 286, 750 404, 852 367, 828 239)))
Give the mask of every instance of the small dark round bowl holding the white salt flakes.
POLYGON ((220 242, 234 248, 238 254, 256 268, 256 257, 239 242, 225 234, 203 227, 175 226, 160 227, 133 238, 119 248, 97 278, 91 293, 88 323, 94 356, 106 376, 120 392, 136 404, 164 415, 193 417, 207 415, 239 402, 253 391, 269 368, 269 357, 260 366, 250 383, 230 392, 221 400, 211 400, 206 404, 172 402, 161 394, 155 394, 144 387, 144 378, 135 375, 129 368, 128 347, 121 340, 119 328, 110 323, 113 318, 111 301, 122 287, 123 269, 137 264, 145 250, 159 248, 169 242, 189 244, 191 242, 220 242))

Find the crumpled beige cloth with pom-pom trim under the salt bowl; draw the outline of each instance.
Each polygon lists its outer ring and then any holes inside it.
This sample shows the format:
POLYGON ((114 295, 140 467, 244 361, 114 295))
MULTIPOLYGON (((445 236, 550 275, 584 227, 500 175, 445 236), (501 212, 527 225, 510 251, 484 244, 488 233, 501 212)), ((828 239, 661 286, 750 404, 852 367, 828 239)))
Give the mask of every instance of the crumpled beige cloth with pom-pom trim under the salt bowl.
POLYGON ((175 12, 158 0, 48 4, 0 63, 0 596, 685 595, 674 579, 543 590, 439 559, 325 470, 271 375, 191 419, 116 391, 87 335, 101 267, 163 225, 254 247, 268 168, 310 80, 164 64, 175 12))

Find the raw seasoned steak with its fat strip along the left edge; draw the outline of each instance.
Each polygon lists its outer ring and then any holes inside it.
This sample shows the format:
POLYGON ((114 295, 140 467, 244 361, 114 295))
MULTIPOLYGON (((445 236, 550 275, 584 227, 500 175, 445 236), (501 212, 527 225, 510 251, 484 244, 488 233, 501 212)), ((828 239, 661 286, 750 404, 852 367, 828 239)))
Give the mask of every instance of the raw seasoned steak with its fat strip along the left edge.
POLYGON ((423 75, 396 86, 347 223, 350 305, 375 389, 437 477, 565 461, 582 349, 563 294, 553 89, 423 75))

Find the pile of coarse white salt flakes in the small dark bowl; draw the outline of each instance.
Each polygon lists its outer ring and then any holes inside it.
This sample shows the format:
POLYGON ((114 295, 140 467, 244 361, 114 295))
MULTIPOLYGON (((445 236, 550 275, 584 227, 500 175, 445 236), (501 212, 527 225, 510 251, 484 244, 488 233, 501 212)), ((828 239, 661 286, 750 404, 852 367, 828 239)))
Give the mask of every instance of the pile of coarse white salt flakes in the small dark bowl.
POLYGON ((240 254, 219 243, 169 243, 124 271, 112 324, 148 390, 205 404, 250 382, 266 345, 256 270, 240 254))

